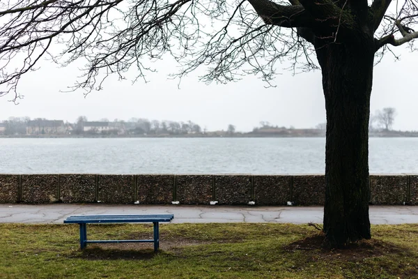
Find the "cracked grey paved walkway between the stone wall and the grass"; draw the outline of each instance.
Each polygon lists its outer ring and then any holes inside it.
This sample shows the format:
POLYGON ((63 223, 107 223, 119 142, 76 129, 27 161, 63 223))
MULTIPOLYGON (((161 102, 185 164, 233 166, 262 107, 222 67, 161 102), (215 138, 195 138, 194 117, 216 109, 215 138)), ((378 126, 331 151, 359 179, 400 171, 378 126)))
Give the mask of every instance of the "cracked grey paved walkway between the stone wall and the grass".
MULTIPOLYGON (((322 223, 322 206, 0 204, 0 223, 63 223, 80 214, 172 213, 173 223, 322 223)), ((418 223, 418 206, 371 206, 372 224, 418 223)))

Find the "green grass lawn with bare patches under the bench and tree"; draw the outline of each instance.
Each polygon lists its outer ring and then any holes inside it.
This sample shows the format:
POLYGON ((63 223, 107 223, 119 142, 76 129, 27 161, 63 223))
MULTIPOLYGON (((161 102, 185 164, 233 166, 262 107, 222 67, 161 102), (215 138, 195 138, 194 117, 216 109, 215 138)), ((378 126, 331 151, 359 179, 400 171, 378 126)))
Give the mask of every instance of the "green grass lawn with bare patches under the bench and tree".
MULTIPOLYGON (((88 239, 144 239, 152 225, 87 225, 88 239)), ((78 225, 0 224, 0 278, 418 278, 418 224, 372 227, 373 239, 323 250, 314 227, 160 225, 153 243, 88 244, 78 225)))

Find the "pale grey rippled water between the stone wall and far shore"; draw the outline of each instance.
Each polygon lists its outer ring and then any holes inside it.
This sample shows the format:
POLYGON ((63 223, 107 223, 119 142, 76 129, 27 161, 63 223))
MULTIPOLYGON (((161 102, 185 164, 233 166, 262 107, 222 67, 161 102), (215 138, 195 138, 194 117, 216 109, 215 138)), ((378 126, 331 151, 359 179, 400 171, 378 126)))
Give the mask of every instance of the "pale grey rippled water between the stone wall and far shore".
MULTIPOLYGON (((418 173, 418 138, 371 138, 371 173, 418 173)), ((2 174, 309 174, 324 138, 0 139, 2 174)))

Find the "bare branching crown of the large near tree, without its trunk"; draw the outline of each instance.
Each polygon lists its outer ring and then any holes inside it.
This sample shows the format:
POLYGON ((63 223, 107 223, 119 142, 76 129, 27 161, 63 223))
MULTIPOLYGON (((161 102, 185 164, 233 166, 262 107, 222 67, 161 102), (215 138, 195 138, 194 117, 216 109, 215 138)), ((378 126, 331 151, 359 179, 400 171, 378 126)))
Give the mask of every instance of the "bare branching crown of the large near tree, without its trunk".
MULTIPOLYGON (((102 89, 109 75, 139 78, 156 70, 153 61, 170 55, 180 64, 176 77, 198 67, 205 82, 261 75, 270 82, 277 62, 291 61, 293 73, 317 68, 316 50, 350 43, 364 28, 366 1, 355 0, 5 0, 0 2, 0 96, 19 98, 22 75, 42 59, 66 66, 86 64, 71 89, 102 89), (254 10, 256 13, 254 13, 254 10), (356 35, 355 35, 356 36, 356 35), (302 40, 302 38, 304 40, 302 40), (314 49, 316 47, 316 50, 314 49), (311 56, 311 55, 314 56, 311 56)), ((390 1, 375 0, 376 50, 417 38, 416 0, 392 13, 390 1), (383 15, 386 16, 383 17, 383 15), (379 20, 380 19, 380 20, 379 20), (400 35, 399 35, 400 34, 400 35)), ((371 15, 371 13, 375 13, 371 15)), ((383 53, 383 52, 381 52, 383 53)), ((271 85, 271 84, 269 84, 271 85)))

